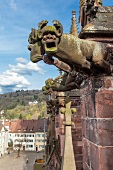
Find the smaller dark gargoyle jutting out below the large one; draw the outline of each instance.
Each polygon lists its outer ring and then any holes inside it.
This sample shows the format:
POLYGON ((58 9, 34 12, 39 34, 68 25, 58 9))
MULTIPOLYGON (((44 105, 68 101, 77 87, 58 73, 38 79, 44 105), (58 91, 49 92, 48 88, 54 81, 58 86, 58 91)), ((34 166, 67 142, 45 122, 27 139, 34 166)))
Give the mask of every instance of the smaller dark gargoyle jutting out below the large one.
POLYGON ((44 94, 49 94, 52 91, 69 91, 72 89, 79 89, 84 76, 82 74, 72 71, 71 73, 64 73, 56 77, 54 80, 49 78, 45 81, 45 86, 42 87, 44 94))

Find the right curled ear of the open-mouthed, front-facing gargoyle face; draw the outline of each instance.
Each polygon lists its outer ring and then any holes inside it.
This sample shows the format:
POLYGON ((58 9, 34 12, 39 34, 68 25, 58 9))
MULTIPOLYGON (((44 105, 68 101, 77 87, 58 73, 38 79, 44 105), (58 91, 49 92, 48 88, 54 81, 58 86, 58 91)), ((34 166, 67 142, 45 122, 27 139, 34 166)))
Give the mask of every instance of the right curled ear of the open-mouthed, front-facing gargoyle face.
POLYGON ((53 25, 56 28, 57 32, 57 36, 60 37, 63 34, 63 26, 62 24, 58 21, 58 20, 53 20, 53 25))

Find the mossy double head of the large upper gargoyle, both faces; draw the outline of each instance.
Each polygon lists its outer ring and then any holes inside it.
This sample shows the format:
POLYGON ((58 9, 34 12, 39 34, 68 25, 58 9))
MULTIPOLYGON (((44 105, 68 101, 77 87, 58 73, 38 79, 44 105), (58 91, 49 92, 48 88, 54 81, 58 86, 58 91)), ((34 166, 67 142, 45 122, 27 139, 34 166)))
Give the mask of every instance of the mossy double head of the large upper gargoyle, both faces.
POLYGON ((38 30, 32 28, 28 38, 28 50, 32 62, 43 60, 43 55, 57 52, 57 44, 63 33, 63 27, 57 20, 53 26, 47 26, 48 21, 43 20, 38 24, 38 30))

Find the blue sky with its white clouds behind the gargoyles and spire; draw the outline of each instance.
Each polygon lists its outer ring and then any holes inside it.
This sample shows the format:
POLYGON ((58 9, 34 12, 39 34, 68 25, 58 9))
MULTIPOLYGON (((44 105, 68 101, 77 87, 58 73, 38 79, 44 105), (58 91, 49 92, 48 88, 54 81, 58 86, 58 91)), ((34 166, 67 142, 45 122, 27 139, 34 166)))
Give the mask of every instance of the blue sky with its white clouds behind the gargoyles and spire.
MULTIPOLYGON (((112 6, 112 0, 103 0, 112 6)), ((69 33, 72 10, 79 17, 79 0, 0 0, 0 93, 41 89, 45 80, 59 75, 56 67, 32 63, 27 50, 31 28, 38 22, 59 20, 69 33)))

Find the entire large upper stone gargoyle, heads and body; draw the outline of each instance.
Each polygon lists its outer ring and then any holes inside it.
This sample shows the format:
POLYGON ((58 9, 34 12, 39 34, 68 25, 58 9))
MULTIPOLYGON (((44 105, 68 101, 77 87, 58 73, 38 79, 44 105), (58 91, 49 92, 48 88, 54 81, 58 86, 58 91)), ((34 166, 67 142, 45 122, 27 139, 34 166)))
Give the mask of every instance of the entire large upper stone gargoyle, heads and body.
POLYGON ((44 60, 44 54, 49 58, 74 66, 74 69, 86 74, 104 72, 110 74, 107 44, 84 40, 72 34, 63 34, 63 27, 57 20, 53 26, 47 26, 44 20, 38 24, 38 30, 32 29, 28 41, 30 59, 32 62, 44 60))

